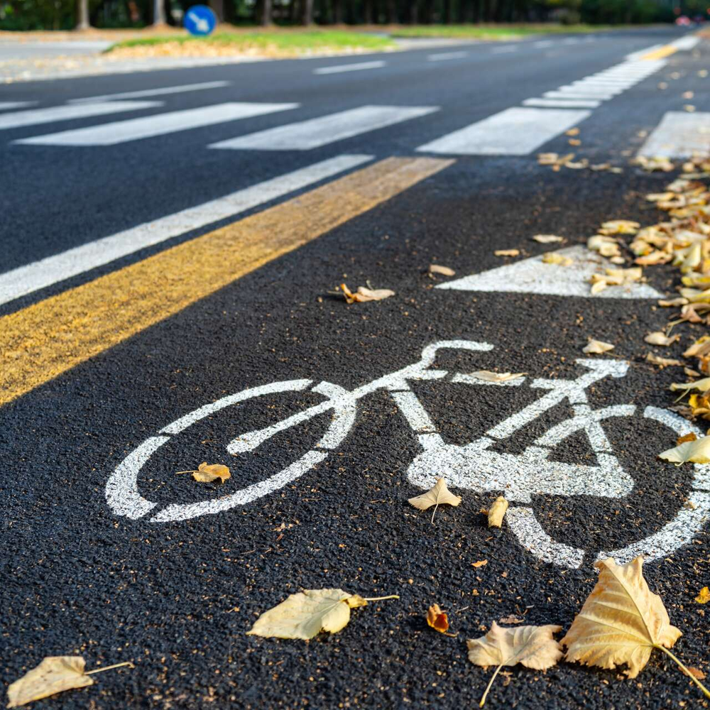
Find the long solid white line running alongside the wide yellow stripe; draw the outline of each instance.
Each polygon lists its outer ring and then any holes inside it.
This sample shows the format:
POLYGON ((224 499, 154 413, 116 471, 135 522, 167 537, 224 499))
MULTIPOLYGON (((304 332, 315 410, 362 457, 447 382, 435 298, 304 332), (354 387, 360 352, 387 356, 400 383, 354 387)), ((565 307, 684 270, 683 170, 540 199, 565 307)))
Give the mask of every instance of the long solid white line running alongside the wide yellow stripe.
POLYGON ((139 224, 118 234, 82 244, 55 256, 48 256, 27 266, 20 266, 0 274, 0 304, 111 263, 139 249, 160 244, 192 229, 201 229, 222 219, 235 217, 247 209, 332 178, 369 160, 372 160, 371 155, 339 155, 337 158, 329 158, 273 180, 259 182, 258 185, 252 185, 245 190, 237 190, 217 200, 198 204, 197 207, 189 207, 153 222, 139 224))

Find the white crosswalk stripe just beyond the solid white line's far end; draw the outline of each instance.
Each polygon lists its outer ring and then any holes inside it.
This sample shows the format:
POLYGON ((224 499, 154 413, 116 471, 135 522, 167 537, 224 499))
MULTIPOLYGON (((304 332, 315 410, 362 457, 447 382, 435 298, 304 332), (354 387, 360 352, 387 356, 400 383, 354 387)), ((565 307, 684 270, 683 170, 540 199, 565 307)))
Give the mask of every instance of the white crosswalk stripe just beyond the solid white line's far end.
POLYGON ((212 143, 209 148, 231 148, 247 151, 309 151, 334 141, 359 136, 398 124, 400 121, 426 116, 438 111, 436 106, 361 106, 317 119, 298 121, 267 131, 238 136, 212 143))

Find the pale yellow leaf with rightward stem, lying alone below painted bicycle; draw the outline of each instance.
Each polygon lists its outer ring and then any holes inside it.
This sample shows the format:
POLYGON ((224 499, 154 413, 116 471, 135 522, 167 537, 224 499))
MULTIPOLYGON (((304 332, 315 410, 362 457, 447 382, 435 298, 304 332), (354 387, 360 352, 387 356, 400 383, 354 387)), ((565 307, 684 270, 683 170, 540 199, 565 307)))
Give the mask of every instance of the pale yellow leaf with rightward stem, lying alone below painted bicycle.
POLYGON ((393 594, 364 599, 342 589, 304 589, 261 614, 246 634, 308 640, 321 631, 337 633, 350 621, 351 609, 381 599, 399 597, 393 594))

